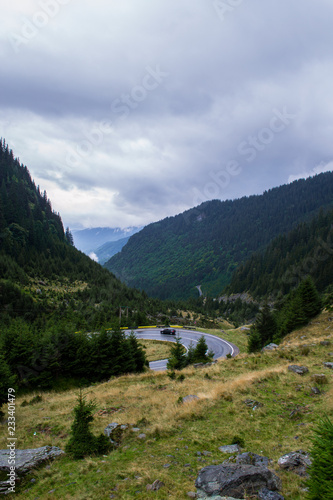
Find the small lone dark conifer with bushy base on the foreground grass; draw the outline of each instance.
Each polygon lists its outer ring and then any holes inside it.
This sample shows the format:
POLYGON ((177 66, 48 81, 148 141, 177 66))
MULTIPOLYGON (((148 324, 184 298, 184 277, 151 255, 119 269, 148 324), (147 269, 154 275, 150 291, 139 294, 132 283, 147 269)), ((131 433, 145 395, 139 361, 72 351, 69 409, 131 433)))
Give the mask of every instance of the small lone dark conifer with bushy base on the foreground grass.
POLYGON ((74 422, 71 426, 71 436, 66 444, 65 451, 74 459, 89 455, 101 455, 110 449, 110 441, 104 434, 94 436, 90 424, 94 420, 93 412, 96 404, 87 403, 81 392, 77 405, 74 407, 74 422))

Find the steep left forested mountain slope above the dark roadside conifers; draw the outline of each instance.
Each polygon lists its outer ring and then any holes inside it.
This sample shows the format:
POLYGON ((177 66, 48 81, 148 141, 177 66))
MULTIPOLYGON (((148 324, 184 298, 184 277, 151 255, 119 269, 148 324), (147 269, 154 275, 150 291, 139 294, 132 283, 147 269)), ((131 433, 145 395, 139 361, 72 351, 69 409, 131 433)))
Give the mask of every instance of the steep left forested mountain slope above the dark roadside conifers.
POLYGON ((120 305, 138 323, 156 307, 73 246, 46 192, 1 140, 0 325, 21 318, 91 329, 118 321, 120 305))

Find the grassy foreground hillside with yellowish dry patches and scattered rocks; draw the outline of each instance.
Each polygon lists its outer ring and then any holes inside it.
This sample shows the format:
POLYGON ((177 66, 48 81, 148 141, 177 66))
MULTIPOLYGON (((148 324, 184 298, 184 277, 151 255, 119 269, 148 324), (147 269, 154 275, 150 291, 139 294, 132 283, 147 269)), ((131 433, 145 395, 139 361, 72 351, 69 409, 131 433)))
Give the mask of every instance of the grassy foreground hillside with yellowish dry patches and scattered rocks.
MULTIPOLYGON (((187 492, 195 491, 198 471, 226 459, 218 448, 236 439, 243 440, 245 451, 273 460, 271 467, 282 479, 286 499, 305 499, 304 478, 278 470, 277 460, 290 451, 308 450, 318 418, 324 413, 333 417, 333 372, 323 366, 332 360, 333 347, 320 343, 333 342, 332 325, 332 313, 324 312, 286 337, 276 351, 241 354, 203 369, 188 368, 182 372, 182 382, 162 372, 90 386, 85 393, 88 400, 97 402, 96 434, 108 423, 119 422, 139 427, 146 437, 140 439, 138 432, 128 431, 120 448, 106 456, 76 462, 61 458, 35 471, 16 498, 187 498, 187 492), (309 373, 296 375, 288 371, 290 364, 307 366, 309 373), (314 395, 312 377, 321 373, 327 383, 318 386, 321 393, 314 395), (199 399, 179 402, 189 394, 199 399), (262 406, 245 404, 246 400, 262 406), (147 492, 147 484, 155 479, 165 486, 147 492)), ((241 330, 233 335, 241 342, 246 339, 241 330)), ((237 343, 235 337, 233 341, 237 343)), ((64 448, 77 391, 43 393, 40 402, 22 406, 34 395, 38 393, 17 399, 19 446, 64 448)), ((6 426, 0 430, 4 448, 6 426)))

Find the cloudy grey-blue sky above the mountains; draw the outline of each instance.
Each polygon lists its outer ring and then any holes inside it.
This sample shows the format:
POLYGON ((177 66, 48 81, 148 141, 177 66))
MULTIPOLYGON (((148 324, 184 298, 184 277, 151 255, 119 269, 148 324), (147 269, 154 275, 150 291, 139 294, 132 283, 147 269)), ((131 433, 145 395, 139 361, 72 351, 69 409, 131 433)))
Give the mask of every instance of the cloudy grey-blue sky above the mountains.
POLYGON ((0 136, 66 226, 333 169, 332 0, 1 3, 0 136))

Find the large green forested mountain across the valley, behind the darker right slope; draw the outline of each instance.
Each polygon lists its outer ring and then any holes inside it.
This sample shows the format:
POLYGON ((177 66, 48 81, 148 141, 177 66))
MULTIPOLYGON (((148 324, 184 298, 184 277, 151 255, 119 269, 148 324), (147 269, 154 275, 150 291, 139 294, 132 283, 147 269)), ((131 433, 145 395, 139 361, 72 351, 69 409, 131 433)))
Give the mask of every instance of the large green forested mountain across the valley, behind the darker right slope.
POLYGON ((233 271, 278 235, 333 207, 333 173, 237 200, 205 202, 133 235, 105 267, 159 298, 218 295, 233 271))

